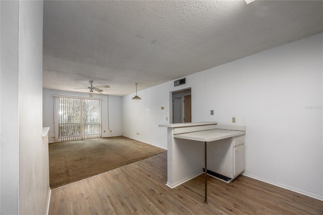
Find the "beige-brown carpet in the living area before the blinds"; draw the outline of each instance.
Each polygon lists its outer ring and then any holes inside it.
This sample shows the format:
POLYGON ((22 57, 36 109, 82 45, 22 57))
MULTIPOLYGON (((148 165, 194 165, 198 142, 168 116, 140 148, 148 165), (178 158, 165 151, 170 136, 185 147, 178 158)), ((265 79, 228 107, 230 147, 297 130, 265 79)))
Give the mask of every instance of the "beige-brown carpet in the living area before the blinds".
POLYGON ((50 143, 48 148, 51 189, 166 152, 124 136, 50 143))

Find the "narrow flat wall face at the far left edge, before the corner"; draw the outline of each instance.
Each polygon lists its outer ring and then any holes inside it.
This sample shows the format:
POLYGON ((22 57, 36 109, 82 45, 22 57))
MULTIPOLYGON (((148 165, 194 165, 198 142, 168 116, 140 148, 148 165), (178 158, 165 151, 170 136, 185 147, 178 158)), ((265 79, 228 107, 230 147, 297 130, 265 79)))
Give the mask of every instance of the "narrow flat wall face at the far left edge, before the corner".
POLYGON ((18 214, 18 17, 19 2, 1 4, 1 206, 18 214), (8 90, 11 89, 11 90, 8 90), (10 108, 8 108, 10 107, 10 108))

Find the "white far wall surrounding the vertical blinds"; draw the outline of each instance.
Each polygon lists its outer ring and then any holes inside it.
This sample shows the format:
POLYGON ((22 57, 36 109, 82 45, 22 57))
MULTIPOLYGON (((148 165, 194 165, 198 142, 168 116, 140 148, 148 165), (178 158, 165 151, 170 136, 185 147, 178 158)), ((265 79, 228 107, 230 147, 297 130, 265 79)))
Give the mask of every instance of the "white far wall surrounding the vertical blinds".
MULTIPOLYGON (((54 121, 53 121, 53 96, 70 95, 89 97, 88 93, 43 89, 43 127, 50 127, 48 136, 49 142, 55 142, 54 121)), ((93 98, 102 98, 102 137, 122 135, 122 97, 109 95, 109 125, 112 133, 109 132, 107 119, 107 96, 93 94, 93 98), (105 133, 103 132, 105 130, 105 133)))

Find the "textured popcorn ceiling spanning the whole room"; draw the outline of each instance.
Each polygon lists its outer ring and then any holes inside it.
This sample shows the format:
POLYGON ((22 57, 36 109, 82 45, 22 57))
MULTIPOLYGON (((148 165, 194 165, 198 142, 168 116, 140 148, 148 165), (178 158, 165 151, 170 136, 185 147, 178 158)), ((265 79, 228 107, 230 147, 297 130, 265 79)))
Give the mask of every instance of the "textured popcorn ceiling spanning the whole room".
POLYGON ((323 32, 322 1, 44 1, 43 13, 43 88, 93 80, 119 96, 323 32))

